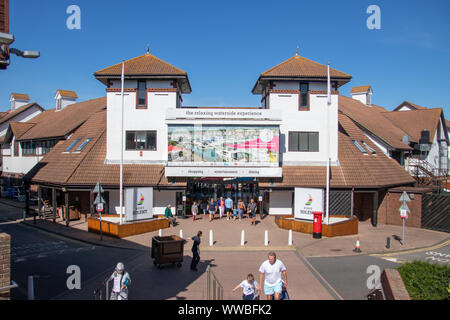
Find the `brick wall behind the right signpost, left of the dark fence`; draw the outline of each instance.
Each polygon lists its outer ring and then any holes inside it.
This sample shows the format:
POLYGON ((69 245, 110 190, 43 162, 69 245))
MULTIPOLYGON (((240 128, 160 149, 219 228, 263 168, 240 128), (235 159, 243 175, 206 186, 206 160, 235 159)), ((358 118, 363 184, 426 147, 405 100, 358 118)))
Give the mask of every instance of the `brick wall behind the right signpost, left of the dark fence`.
MULTIPOLYGON (((422 226, 422 193, 407 192, 411 201, 407 202, 408 208, 411 210, 406 219, 407 227, 420 228, 422 226)), ((383 224, 402 225, 400 218, 400 206, 402 202, 399 200, 402 192, 388 191, 378 207, 378 222, 383 224)), ((381 198, 381 196, 380 196, 381 198)))

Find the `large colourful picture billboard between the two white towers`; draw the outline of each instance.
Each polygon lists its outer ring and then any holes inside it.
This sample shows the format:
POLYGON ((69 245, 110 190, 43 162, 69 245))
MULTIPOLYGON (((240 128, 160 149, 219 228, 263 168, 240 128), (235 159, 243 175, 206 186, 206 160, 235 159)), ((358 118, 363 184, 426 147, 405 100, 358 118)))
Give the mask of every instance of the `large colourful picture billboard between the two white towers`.
POLYGON ((274 125, 169 125, 169 166, 279 166, 274 125))

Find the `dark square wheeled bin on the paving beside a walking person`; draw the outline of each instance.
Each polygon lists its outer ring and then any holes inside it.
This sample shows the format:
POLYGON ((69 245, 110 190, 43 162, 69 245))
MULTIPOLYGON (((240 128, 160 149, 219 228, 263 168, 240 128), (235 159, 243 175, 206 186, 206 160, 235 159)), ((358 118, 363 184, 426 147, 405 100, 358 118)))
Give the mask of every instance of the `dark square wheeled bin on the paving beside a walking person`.
POLYGON ((152 238, 153 264, 162 269, 164 264, 176 264, 178 268, 183 263, 184 243, 186 240, 176 235, 152 238))

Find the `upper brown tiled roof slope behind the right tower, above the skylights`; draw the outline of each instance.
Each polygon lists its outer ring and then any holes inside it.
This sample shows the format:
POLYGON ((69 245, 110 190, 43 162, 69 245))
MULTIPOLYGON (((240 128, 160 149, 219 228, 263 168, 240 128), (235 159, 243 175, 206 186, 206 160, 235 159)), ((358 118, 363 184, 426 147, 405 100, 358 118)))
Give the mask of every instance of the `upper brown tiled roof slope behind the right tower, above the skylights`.
POLYGON ((348 116, 391 147, 411 149, 410 146, 402 142, 403 137, 408 134, 384 117, 385 113, 368 107, 358 100, 341 95, 339 96, 339 112, 348 116))

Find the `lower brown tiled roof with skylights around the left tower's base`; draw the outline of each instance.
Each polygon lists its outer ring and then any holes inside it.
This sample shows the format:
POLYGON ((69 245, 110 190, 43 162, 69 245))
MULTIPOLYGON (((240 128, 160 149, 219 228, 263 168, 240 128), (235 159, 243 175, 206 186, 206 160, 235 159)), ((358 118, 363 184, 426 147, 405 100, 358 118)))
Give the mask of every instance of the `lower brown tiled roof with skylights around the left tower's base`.
MULTIPOLYGON (((62 185, 119 185, 119 165, 105 164, 106 157, 106 111, 92 115, 69 140, 60 141, 28 174, 36 183, 62 185), (85 138, 92 138, 80 153, 64 153, 67 147, 80 138, 74 149, 85 138)), ((123 166, 124 186, 172 186, 164 176, 163 165, 123 166)), ((180 184, 177 184, 180 185, 180 184)), ((181 185, 185 185, 181 183, 181 185)))

